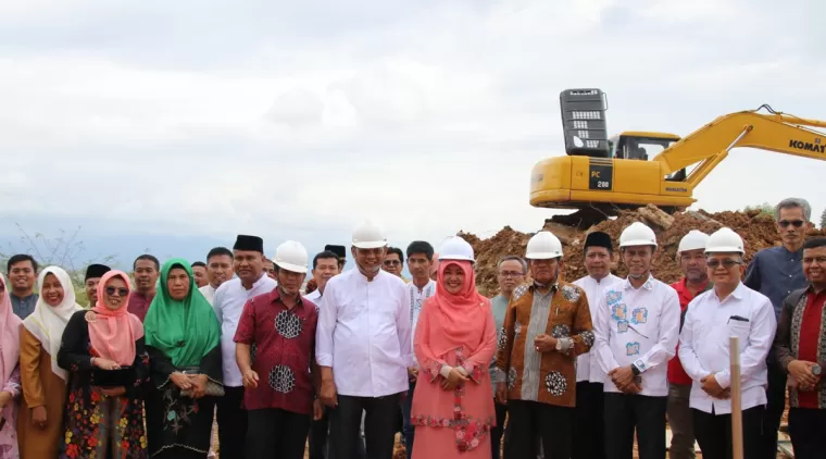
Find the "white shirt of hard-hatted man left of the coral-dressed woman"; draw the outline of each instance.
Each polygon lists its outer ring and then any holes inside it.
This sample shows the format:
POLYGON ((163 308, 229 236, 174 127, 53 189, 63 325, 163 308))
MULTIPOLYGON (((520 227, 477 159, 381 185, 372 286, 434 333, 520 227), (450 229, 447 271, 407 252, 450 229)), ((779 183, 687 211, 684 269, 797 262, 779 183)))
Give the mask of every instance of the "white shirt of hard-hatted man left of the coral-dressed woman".
POLYGON ((321 302, 316 360, 333 368, 338 394, 384 397, 410 388, 410 295, 401 278, 379 271, 368 282, 352 269, 327 282, 321 302))

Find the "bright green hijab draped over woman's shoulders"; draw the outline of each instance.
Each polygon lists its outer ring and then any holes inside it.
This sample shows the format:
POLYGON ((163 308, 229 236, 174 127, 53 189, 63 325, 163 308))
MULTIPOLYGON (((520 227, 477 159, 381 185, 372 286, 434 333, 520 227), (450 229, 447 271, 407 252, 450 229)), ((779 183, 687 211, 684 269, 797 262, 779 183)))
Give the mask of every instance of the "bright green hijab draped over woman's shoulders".
POLYGON ((199 367, 221 339, 215 311, 196 287, 192 269, 184 259, 173 258, 163 264, 160 284, 143 320, 146 344, 172 359, 177 368, 199 367), (173 268, 183 268, 189 275, 189 294, 182 301, 172 299, 166 285, 173 268))

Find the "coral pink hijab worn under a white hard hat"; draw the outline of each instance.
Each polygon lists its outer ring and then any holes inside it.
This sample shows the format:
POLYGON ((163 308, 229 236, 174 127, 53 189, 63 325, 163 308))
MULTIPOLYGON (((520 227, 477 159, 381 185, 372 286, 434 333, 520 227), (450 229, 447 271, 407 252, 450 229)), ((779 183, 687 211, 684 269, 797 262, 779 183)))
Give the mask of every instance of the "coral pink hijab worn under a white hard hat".
POLYGON ((437 320, 430 334, 430 348, 437 358, 460 346, 473 353, 481 344, 485 322, 490 314, 490 300, 476 291, 476 275, 470 261, 445 260, 439 263, 436 295, 428 299, 437 320), (445 289, 445 271, 459 265, 465 273, 462 289, 452 295, 445 289))

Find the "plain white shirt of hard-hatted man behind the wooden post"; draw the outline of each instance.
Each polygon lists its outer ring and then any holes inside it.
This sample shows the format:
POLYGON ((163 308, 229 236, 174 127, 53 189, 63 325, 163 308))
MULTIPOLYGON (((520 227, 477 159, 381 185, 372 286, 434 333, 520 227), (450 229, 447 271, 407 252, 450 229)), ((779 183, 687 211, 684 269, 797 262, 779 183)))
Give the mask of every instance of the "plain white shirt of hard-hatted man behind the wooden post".
POLYGON ((714 414, 731 412, 730 399, 713 398, 700 383, 700 380, 714 373, 721 387, 730 387, 730 336, 740 338, 742 409, 765 405, 765 387, 768 384, 766 356, 776 331, 772 301, 742 283, 723 301, 713 288, 698 295, 688 305, 679 335, 679 361, 693 380, 689 406, 706 413, 711 413, 712 409, 714 414))

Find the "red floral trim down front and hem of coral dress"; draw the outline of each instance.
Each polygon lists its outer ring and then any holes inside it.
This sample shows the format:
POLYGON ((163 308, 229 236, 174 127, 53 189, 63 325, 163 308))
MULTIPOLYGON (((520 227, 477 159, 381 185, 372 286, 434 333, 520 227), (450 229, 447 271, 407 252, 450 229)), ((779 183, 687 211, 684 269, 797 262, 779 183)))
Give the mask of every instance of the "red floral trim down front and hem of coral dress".
MULTIPOLYGON (((455 352, 456 365, 464 368, 465 358, 463 349, 460 347, 455 350, 455 352)), ((472 372, 470 372, 470 374, 471 377, 474 377, 475 375, 476 381, 481 377, 481 370, 476 367, 472 372)), ((476 382, 478 383, 478 381, 476 382)), ((490 434, 490 427, 493 425, 493 418, 490 417, 488 419, 480 420, 467 415, 462 408, 462 398, 464 395, 465 386, 463 383, 460 383, 453 390, 452 418, 418 414, 411 419, 411 423, 416 426, 453 429, 456 437, 456 448, 460 451, 470 451, 476 448, 483 443, 485 436, 490 434)))

